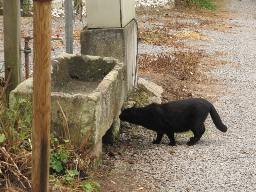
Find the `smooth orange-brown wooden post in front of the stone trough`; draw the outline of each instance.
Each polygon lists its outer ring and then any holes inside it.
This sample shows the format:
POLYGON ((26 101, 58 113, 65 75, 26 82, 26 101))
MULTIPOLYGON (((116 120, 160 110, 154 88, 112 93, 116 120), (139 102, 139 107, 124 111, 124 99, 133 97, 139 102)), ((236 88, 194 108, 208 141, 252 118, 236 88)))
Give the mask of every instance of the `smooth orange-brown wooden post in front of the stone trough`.
POLYGON ((51 1, 34 0, 32 192, 49 191, 51 1))

